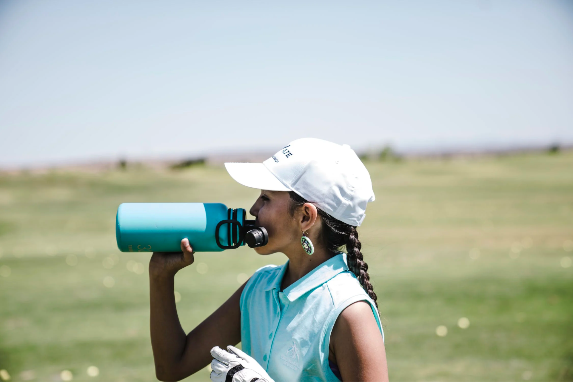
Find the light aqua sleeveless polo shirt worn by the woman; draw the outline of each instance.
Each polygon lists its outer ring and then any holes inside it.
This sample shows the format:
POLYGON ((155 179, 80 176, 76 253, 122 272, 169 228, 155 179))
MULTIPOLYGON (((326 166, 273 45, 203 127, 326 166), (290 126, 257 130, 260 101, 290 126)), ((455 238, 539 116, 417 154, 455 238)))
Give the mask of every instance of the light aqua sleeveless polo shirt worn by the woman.
POLYGON ((241 294, 242 349, 276 381, 339 381, 328 365, 332 327, 356 301, 378 309, 348 270, 346 254, 317 266, 281 292, 288 261, 258 269, 241 294))

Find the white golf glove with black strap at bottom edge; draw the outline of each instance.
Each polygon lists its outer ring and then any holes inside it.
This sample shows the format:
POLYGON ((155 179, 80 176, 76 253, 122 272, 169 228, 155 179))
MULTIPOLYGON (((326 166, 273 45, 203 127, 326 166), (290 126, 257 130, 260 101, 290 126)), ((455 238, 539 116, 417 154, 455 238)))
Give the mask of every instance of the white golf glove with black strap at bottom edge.
POLYGON ((211 349, 211 381, 213 382, 231 382, 231 381, 260 381, 274 382, 269 377, 265 369, 261 367, 245 352, 237 349, 235 346, 227 346, 227 350, 215 346, 211 349))

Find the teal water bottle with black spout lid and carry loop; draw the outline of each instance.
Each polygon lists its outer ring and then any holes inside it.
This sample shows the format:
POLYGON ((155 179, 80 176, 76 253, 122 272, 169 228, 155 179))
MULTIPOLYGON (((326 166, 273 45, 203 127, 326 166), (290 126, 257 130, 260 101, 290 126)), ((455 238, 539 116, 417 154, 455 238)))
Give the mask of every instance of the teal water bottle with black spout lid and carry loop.
POLYGON ((122 203, 115 237, 122 252, 180 252, 187 238, 195 252, 220 252, 269 240, 264 227, 246 220, 244 208, 222 203, 122 203))

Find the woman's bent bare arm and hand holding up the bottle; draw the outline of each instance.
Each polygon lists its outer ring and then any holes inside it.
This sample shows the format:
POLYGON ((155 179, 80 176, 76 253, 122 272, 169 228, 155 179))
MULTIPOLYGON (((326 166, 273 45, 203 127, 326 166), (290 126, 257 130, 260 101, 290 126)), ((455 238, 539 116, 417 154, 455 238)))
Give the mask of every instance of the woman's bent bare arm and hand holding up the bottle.
POLYGON ((180 380, 211 362, 213 346, 225 347, 241 341, 239 300, 245 284, 197 328, 185 334, 177 309, 173 283, 178 270, 194 261, 187 239, 182 253, 154 253, 150 261, 151 347, 155 375, 159 380, 180 380))

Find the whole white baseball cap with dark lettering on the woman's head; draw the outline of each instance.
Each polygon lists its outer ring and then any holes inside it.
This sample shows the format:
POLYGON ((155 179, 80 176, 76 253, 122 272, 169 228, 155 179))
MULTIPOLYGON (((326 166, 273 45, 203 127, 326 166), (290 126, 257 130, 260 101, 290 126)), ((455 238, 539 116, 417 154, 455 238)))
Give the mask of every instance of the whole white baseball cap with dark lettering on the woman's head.
POLYGON ((295 191, 333 218, 359 226, 374 202, 370 174, 349 145, 292 141, 263 163, 225 163, 234 180, 269 191, 295 191))

